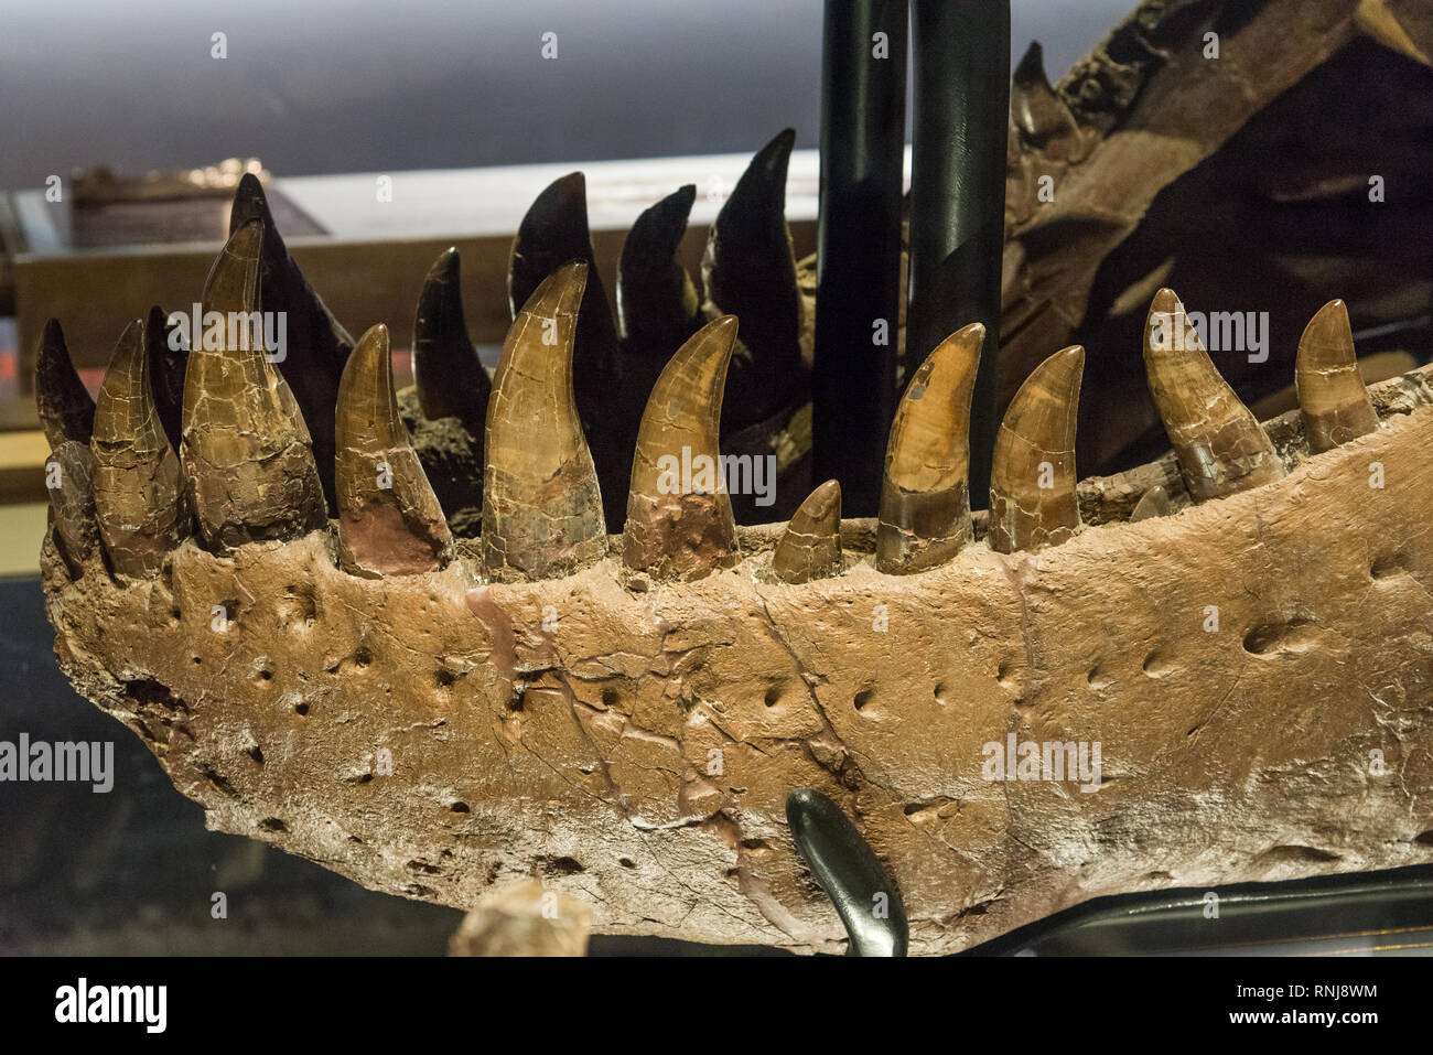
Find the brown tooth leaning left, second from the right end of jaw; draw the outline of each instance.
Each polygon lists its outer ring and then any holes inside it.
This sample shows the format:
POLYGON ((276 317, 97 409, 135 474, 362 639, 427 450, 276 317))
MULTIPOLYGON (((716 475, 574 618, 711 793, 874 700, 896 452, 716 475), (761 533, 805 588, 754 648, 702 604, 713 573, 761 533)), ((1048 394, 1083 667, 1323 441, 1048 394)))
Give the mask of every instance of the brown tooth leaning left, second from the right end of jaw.
POLYGON ((1149 307, 1145 373, 1195 502, 1283 479, 1274 444, 1215 370, 1172 290, 1156 292, 1149 307))

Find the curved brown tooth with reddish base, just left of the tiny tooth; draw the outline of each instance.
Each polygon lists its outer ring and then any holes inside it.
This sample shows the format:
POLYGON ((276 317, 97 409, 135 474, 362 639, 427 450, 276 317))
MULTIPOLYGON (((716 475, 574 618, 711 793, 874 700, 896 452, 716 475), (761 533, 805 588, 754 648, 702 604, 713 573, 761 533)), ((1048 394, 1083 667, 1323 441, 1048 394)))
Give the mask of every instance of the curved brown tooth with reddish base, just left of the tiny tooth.
POLYGON ((655 579, 699 579, 737 562, 737 522, 718 436, 737 317, 676 350, 652 387, 632 459, 622 559, 655 579))

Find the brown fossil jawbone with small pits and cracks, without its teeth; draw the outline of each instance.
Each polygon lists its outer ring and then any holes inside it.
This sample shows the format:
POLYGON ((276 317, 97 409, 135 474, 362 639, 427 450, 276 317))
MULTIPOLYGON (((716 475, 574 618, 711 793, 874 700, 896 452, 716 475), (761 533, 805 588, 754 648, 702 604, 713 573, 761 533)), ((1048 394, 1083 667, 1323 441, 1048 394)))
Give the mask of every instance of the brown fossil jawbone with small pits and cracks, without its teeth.
POLYGON ((1099 894, 1433 857, 1430 370, 1315 459, 1297 411, 1273 423, 1267 486, 1185 507, 1165 459, 1082 482, 1063 545, 977 538, 916 575, 876 572, 868 520, 838 578, 770 581, 771 525, 645 591, 615 538, 490 586, 471 550, 350 576, 331 532, 189 540, 122 586, 47 539, 46 602, 62 668, 214 829, 464 909, 536 873, 599 932, 837 950, 784 820, 807 786, 900 887, 911 950, 954 952, 1099 894), (1156 483, 1179 512, 1111 523, 1156 483), (983 780, 1007 734, 1099 741, 1103 787, 983 780))

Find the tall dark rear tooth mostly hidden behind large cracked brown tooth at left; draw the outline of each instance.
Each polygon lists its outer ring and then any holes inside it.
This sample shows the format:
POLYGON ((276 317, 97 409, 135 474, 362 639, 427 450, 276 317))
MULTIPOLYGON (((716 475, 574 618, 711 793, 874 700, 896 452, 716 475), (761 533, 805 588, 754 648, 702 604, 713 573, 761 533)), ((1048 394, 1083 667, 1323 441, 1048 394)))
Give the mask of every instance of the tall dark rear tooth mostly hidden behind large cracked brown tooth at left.
POLYGON ((239 179, 229 212, 229 237, 251 221, 264 225, 259 257, 259 287, 264 310, 284 320, 285 355, 278 371, 310 430, 310 443, 324 484, 324 497, 334 502, 334 407, 354 338, 332 317, 284 245, 269 214, 264 186, 252 173, 239 179))

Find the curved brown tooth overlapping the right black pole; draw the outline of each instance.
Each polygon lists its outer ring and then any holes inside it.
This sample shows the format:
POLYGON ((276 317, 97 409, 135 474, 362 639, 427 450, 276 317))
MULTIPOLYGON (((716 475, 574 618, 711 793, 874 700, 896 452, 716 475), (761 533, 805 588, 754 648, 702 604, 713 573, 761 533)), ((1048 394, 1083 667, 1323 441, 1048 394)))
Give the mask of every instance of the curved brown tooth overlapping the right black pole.
POLYGON ((970 394, 983 343, 972 323, 937 344, 896 407, 876 529, 881 572, 934 568, 970 542, 970 394))

